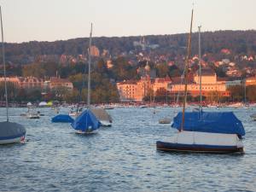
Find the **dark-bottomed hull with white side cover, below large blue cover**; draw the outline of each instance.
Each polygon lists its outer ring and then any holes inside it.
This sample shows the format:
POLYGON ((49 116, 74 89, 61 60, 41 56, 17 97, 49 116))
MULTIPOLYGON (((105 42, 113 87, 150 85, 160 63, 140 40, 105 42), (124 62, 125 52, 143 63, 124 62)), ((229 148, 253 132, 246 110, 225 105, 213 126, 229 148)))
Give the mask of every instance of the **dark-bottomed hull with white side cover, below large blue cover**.
POLYGON ((164 151, 200 153, 243 153, 243 144, 236 134, 180 131, 169 141, 157 142, 164 151))

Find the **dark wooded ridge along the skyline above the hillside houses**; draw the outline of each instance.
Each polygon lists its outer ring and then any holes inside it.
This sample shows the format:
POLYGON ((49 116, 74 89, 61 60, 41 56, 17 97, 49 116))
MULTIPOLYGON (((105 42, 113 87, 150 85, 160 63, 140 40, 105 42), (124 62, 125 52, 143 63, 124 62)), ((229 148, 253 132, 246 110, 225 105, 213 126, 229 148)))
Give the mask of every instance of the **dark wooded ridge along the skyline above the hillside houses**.
MULTIPOLYGON (((117 56, 140 48, 134 47, 134 41, 143 37, 113 37, 93 38, 93 44, 102 52, 108 49, 109 55, 117 56)), ((217 54, 221 49, 230 49, 232 55, 256 54, 256 31, 218 31, 202 32, 202 53, 217 54)), ((187 34, 149 35, 144 39, 149 44, 159 44, 159 48, 151 49, 150 53, 165 54, 175 57, 184 55, 187 43, 187 34)), ((6 59, 9 63, 26 64, 36 61, 38 55, 82 55, 87 53, 89 38, 75 38, 66 41, 37 42, 22 44, 6 44, 6 59)), ((198 52, 198 34, 192 35, 192 54, 198 52)))

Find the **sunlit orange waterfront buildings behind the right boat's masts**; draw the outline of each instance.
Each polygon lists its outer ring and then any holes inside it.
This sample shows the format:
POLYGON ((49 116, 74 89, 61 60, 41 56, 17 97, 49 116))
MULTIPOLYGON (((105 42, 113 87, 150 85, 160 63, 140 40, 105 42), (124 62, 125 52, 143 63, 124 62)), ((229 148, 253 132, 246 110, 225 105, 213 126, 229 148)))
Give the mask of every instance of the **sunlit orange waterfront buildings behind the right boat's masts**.
MULTIPOLYGON (((218 79, 216 73, 209 68, 205 68, 201 72, 201 93, 203 96, 211 96, 214 92, 218 93, 218 96, 230 96, 229 86, 241 84, 256 85, 256 78, 227 81, 225 79, 218 79)), ((168 90, 168 94, 175 95, 184 91, 185 84, 182 78, 142 78, 138 81, 119 82, 117 88, 122 102, 141 102, 145 96, 148 96, 149 90, 153 90, 154 96, 156 91, 161 88, 168 90)), ((200 77, 198 73, 189 76, 187 90, 190 96, 200 95, 200 77)))

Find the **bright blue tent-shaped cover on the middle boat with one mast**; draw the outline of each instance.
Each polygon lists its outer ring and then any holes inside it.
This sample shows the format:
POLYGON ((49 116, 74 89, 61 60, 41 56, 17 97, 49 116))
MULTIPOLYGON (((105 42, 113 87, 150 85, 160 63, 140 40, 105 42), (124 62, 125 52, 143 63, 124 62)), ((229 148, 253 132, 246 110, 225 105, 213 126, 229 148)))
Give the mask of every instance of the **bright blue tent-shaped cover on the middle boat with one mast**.
POLYGON ((101 126, 101 123, 90 109, 86 109, 83 113, 80 113, 71 125, 74 130, 94 131, 101 126))

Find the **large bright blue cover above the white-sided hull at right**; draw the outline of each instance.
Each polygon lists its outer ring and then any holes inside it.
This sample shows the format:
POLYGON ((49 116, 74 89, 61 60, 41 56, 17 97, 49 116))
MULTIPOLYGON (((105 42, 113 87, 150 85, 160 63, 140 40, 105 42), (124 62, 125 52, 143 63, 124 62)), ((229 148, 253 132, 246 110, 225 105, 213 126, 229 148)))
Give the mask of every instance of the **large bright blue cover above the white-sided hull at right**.
MULTIPOLYGON (((182 119, 183 113, 177 113, 172 127, 180 130, 182 119)), ((233 112, 185 112, 183 130, 245 135, 241 121, 233 112)))

